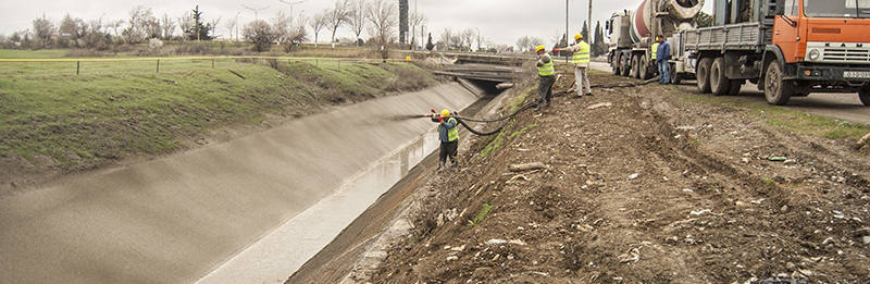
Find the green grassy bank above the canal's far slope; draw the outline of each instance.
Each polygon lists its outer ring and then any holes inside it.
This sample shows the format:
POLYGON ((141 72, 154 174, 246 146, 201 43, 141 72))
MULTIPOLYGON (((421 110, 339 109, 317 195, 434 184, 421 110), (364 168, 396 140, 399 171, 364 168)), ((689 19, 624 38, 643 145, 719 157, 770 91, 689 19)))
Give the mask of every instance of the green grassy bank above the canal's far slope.
MULTIPOLYGON (((2 50, 0 58, 63 53, 2 50)), ((171 152, 184 147, 181 137, 258 124, 270 113, 304 114, 436 84, 407 63, 161 59, 157 67, 157 61, 0 62, 0 156, 87 168, 171 152)))

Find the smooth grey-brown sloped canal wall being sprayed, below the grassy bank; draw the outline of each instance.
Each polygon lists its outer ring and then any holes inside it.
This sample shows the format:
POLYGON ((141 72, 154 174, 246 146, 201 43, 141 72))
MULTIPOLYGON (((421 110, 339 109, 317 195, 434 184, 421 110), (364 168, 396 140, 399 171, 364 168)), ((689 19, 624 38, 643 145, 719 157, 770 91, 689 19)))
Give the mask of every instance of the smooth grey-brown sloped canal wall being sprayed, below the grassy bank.
MULTIPOLYGON (((347 196, 370 169, 390 171, 373 164, 434 126, 425 119, 385 118, 462 109, 475 99, 458 84, 443 85, 4 196, 0 283, 194 282, 273 232, 323 238, 323 223, 284 224, 304 220, 303 212, 324 198, 347 196)), ((321 206, 336 214, 343 209, 321 206)))

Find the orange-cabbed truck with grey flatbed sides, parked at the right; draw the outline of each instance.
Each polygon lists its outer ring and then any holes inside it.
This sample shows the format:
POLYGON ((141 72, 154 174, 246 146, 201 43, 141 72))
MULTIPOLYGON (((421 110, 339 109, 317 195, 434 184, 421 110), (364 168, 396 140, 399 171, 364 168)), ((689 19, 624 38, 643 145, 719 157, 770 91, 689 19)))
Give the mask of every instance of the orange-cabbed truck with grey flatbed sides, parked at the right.
POLYGON ((858 92, 870 106, 870 0, 711 2, 712 26, 669 38, 675 74, 697 77, 701 92, 734 95, 748 81, 771 104, 858 92))

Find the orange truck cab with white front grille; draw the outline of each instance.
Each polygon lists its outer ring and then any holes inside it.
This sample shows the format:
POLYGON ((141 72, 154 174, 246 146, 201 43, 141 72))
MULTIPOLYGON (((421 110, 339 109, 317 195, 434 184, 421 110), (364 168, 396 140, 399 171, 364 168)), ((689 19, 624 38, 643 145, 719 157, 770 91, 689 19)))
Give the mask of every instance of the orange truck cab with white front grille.
MULTIPOLYGON (((766 53, 770 59, 765 62, 771 64, 775 55, 782 66, 781 76, 792 84, 771 90, 774 103, 784 103, 787 95, 858 91, 861 102, 870 106, 870 0, 780 2, 775 7, 772 47, 766 53)), ((766 81, 775 81, 767 73, 766 81)), ((778 87, 773 83, 766 85, 778 87)))

